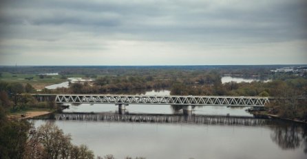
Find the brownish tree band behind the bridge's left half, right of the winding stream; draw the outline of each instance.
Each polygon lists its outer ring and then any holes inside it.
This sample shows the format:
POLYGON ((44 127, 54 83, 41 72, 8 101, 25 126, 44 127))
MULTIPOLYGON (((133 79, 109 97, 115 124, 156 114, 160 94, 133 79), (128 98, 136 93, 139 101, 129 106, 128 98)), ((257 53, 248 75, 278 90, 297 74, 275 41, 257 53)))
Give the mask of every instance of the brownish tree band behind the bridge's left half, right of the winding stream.
POLYGON ((182 71, 166 75, 120 75, 98 77, 94 82, 70 84, 70 88, 43 89, 41 93, 140 93, 142 90, 170 89, 173 84, 187 86, 221 84, 221 76, 214 71, 182 71), (138 91, 136 91, 138 90, 138 91))

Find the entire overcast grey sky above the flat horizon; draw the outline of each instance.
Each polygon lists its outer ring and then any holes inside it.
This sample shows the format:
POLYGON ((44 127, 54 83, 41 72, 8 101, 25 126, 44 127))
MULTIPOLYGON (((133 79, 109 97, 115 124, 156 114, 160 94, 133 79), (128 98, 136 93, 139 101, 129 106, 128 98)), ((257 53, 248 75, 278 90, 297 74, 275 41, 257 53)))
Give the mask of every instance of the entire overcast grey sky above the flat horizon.
POLYGON ((306 0, 0 1, 0 65, 307 64, 306 0))

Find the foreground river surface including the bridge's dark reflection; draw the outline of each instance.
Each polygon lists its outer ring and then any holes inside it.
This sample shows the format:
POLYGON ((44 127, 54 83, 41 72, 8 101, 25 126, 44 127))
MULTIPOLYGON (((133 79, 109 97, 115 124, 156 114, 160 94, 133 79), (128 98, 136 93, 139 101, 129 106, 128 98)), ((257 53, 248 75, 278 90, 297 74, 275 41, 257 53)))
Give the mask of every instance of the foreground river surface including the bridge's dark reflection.
POLYGON ((138 113, 63 113, 55 114, 52 119, 56 120, 36 120, 35 125, 54 122, 65 133, 72 134, 75 144, 84 143, 100 156, 108 153, 116 158, 127 155, 147 158, 306 158, 307 152, 306 125, 276 119, 138 113), (164 145, 163 149, 161 145, 164 145), (153 151, 161 154, 151 153, 153 151), (181 154, 174 156, 178 151, 181 154), (218 151, 227 153, 219 156, 218 151))

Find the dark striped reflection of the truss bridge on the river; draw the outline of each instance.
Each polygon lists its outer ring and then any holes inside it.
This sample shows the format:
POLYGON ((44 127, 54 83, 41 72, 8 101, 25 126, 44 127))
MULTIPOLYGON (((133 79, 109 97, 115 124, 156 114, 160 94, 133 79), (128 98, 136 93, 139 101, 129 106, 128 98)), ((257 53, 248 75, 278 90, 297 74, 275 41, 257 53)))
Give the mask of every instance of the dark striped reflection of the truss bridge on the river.
POLYGON ((194 123, 209 125, 266 125, 271 120, 255 117, 226 117, 191 114, 114 114, 60 113, 51 119, 58 121, 115 121, 133 123, 194 123))

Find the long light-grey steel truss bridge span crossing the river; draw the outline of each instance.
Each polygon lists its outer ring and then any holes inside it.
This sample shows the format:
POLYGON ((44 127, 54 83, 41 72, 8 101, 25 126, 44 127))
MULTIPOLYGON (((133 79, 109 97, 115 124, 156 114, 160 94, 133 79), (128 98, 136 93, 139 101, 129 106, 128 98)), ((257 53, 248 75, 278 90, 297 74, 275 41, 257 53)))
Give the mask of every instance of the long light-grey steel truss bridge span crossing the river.
POLYGON ((243 106, 263 107, 268 97, 178 96, 178 95, 47 95, 32 94, 36 99, 53 97, 56 103, 114 103, 118 105, 154 104, 179 106, 243 106))

